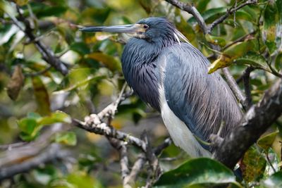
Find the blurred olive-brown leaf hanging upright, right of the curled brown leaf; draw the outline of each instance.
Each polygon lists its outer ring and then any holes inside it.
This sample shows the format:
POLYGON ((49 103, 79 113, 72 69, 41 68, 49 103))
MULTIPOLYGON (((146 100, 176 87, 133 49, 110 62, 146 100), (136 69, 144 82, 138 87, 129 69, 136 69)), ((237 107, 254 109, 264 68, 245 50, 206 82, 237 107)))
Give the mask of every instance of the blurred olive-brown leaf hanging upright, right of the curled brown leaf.
POLYGON ((34 89, 35 99, 37 102, 37 111, 40 115, 49 115, 50 101, 47 89, 40 77, 32 77, 32 85, 34 89))

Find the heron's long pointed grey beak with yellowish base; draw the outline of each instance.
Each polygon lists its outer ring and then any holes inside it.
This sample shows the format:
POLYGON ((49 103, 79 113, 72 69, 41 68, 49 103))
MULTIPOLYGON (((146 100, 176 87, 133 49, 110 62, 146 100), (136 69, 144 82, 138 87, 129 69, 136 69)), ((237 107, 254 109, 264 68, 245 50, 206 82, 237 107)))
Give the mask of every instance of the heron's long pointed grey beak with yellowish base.
POLYGON ((123 32, 123 33, 135 33, 142 31, 142 25, 140 24, 128 24, 128 25, 113 25, 113 26, 93 26, 82 27, 82 32, 123 32))

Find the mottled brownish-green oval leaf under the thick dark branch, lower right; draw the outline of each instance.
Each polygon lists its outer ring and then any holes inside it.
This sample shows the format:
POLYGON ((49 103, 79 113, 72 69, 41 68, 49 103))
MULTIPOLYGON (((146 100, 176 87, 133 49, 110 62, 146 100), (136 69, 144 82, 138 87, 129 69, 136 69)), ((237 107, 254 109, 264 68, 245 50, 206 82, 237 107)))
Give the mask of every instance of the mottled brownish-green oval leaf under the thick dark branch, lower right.
POLYGON ((263 177, 266 160, 262 153, 252 146, 245 153, 240 166, 243 169, 243 179, 246 182, 253 182, 263 177))

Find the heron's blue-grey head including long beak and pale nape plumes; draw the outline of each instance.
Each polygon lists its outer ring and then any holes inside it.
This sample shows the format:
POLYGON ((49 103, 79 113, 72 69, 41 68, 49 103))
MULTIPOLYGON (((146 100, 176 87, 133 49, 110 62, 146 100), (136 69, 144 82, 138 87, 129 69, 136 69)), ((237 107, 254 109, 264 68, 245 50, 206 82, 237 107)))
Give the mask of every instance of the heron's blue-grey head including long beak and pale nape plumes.
POLYGON ((120 32, 127 33, 147 42, 180 42, 188 40, 166 18, 145 18, 130 25, 82 27, 82 32, 120 32))

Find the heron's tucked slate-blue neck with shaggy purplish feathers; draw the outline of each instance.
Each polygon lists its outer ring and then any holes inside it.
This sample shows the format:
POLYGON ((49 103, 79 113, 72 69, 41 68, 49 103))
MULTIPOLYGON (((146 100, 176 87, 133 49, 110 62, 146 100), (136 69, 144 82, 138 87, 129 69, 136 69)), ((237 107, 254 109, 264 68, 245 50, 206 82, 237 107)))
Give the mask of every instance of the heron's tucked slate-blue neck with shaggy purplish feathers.
POLYGON ((142 39, 130 39, 121 57, 123 75, 142 101, 159 110, 159 69, 157 58, 164 46, 142 39))

